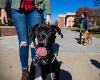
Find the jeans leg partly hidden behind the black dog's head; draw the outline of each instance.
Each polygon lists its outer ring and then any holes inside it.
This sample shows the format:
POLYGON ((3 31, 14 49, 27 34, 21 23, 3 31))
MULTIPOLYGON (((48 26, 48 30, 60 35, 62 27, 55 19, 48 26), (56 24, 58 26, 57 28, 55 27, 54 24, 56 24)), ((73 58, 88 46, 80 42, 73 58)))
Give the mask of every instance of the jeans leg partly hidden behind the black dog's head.
MULTIPOLYGON (((31 29, 32 27, 34 27, 36 24, 42 24, 43 21, 43 14, 40 14, 38 12, 38 10, 34 10, 31 13, 28 14, 28 28, 31 29)), ((32 40, 29 39, 30 41, 30 48, 31 48, 31 57, 32 60, 35 59, 35 47, 32 43, 32 40)))

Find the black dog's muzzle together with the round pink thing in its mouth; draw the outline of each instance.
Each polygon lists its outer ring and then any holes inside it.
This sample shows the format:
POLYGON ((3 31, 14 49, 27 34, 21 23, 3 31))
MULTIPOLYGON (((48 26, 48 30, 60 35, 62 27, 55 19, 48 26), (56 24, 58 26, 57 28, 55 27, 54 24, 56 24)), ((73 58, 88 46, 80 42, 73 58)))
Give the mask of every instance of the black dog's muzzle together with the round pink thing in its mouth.
POLYGON ((47 42, 48 42, 48 37, 46 33, 40 32, 38 35, 36 35, 36 38, 35 38, 36 54, 39 57, 47 56, 47 53, 48 53, 47 42))

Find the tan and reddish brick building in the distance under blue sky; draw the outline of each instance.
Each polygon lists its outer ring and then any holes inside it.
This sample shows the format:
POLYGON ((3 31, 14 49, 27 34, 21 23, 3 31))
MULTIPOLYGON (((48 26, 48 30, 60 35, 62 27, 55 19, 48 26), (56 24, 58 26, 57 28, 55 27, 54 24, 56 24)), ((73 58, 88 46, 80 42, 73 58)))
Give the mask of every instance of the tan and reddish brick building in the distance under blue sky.
POLYGON ((60 28, 73 27, 76 14, 68 12, 67 14, 60 14, 58 16, 58 26, 60 28))

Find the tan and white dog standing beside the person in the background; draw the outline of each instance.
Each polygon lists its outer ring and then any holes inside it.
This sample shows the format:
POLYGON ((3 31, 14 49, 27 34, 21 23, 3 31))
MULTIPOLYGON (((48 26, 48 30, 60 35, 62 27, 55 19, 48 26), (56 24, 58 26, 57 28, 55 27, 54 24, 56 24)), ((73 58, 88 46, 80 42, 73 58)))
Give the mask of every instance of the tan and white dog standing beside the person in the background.
POLYGON ((81 44, 83 43, 83 45, 87 44, 91 44, 92 43, 92 33, 91 32, 84 32, 83 35, 81 36, 81 44))

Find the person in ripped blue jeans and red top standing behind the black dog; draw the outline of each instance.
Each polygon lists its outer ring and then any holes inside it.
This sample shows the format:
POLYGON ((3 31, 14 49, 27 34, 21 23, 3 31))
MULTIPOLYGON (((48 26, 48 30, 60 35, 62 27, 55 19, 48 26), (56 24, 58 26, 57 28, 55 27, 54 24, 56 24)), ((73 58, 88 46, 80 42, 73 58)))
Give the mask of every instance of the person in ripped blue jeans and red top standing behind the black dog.
POLYGON ((32 61, 35 58, 35 47, 29 38, 29 29, 36 24, 44 23, 46 13, 46 23, 51 24, 50 0, 0 0, 1 23, 8 23, 6 4, 11 4, 12 21, 15 25, 19 40, 19 56, 22 66, 21 80, 27 80, 29 46, 32 61))

